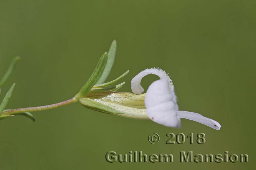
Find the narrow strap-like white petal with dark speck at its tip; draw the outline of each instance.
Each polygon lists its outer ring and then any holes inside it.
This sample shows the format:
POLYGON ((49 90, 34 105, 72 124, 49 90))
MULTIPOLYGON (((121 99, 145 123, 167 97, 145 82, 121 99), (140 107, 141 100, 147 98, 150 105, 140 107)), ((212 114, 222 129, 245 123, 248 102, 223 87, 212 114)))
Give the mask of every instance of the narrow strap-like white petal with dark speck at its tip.
POLYGON ((201 114, 194 113, 194 112, 187 112, 187 111, 177 111, 177 116, 180 118, 185 118, 189 120, 193 120, 204 125, 207 125, 211 128, 219 130, 221 125, 219 122, 209 119, 207 117, 202 116, 201 114))

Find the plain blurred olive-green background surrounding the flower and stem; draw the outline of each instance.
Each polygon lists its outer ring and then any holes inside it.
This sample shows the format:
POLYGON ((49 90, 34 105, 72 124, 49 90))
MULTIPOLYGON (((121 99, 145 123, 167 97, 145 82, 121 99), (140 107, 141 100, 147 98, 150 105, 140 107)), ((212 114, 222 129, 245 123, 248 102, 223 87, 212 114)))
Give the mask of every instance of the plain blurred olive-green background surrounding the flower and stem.
MULTIPOLYGON (((79 103, 33 113, 36 122, 0 122, 0 169, 253 169, 255 167, 255 1, 0 1, 0 73, 22 60, 8 108, 73 97, 112 40, 118 43, 108 80, 130 69, 170 73, 180 110, 201 113, 220 130, 182 120, 182 129, 99 113, 79 103), (158 133, 156 145, 148 142, 158 133), (206 143, 166 145, 167 133, 206 134, 206 143), (108 163, 116 151, 171 153, 174 163, 108 163), (248 154, 249 163, 179 163, 180 151, 248 154)), ((144 89, 157 77, 142 81, 144 89)), ((3 99, 1 95, 1 100, 3 99)), ((194 137, 196 139, 196 137, 194 137)), ((194 139, 194 140, 195 140, 194 139)))

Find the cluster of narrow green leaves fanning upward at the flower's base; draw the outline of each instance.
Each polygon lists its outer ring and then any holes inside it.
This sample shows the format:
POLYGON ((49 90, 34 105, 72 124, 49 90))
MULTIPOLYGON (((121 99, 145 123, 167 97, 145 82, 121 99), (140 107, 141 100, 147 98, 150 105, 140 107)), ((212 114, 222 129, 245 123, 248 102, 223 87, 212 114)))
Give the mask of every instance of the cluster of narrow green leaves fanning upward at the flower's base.
POLYGON ((101 92, 110 91, 110 90, 115 91, 122 87, 122 85, 125 82, 118 85, 115 85, 115 84, 119 80, 121 80, 129 72, 129 70, 126 71, 117 79, 108 83, 103 83, 108 77, 111 71, 111 68, 114 64, 115 53, 116 53, 116 41, 114 40, 110 46, 109 53, 105 52, 100 57, 100 60, 96 68, 94 69, 92 75, 79 91, 78 97, 83 97, 85 95, 91 95, 91 94, 101 93, 101 92))

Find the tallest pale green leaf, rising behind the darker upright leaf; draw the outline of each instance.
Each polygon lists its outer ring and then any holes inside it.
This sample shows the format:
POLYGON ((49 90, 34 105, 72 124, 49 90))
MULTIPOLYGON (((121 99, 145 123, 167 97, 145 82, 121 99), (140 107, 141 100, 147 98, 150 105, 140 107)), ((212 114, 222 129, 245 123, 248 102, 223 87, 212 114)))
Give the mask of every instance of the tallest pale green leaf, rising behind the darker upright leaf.
POLYGON ((108 62, 106 64, 106 67, 100 77, 100 79, 98 80, 98 84, 104 83, 105 80, 107 79, 107 77, 109 76, 109 73, 112 69, 112 66, 114 64, 115 61, 115 52, 116 52, 116 40, 114 40, 109 48, 109 52, 108 52, 108 62))

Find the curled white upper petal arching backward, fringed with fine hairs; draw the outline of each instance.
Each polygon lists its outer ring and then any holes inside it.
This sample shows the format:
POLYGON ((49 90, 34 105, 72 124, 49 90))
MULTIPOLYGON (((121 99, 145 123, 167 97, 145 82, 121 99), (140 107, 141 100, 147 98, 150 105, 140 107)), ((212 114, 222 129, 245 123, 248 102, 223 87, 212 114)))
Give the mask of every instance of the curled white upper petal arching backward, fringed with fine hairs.
POLYGON ((172 80, 170 79, 170 76, 168 76, 168 74, 161 68, 157 67, 157 68, 146 69, 138 73, 135 77, 133 77, 131 81, 131 88, 134 94, 142 94, 144 89, 141 86, 141 79, 148 74, 155 74, 160 79, 167 79, 170 87, 173 84, 172 80))

